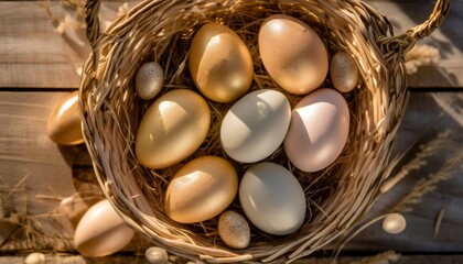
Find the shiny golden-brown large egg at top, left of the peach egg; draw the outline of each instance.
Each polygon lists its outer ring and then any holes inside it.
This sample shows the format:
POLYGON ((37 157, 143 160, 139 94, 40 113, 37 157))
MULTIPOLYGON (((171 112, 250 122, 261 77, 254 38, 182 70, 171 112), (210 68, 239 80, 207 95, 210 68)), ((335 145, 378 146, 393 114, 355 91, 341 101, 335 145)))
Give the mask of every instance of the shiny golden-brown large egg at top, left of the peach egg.
POLYGON ((190 72, 200 91, 217 102, 230 102, 248 91, 254 66, 249 50, 230 29, 203 25, 190 48, 190 72))

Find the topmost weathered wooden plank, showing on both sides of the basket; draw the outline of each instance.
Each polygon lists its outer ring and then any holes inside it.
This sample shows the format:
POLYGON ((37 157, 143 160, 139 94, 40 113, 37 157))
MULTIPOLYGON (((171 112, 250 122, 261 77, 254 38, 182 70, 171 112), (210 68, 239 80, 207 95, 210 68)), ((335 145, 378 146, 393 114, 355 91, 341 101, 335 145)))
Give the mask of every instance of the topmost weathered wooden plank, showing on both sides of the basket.
MULTIPOLYGON (((427 66, 410 76, 411 87, 463 87, 463 0, 453 0, 445 23, 422 43, 441 51, 439 66, 427 66)), ((54 31, 41 4, 43 1, 0 1, 0 88, 78 87, 78 68, 88 46, 82 32, 69 37, 54 31), (14 12, 12 12, 14 10, 14 12), (76 45, 77 43, 77 45, 76 45), (84 46, 82 46, 84 45, 84 46)), ((370 0, 396 28, 396 34, 421 23, 431 12, 433 1, 370 0)), ((121 3, 105 3, 103 16, 115 18, 121 3)), ((133 3, 132 3, 133 4, 133 3)), ((67 13, 53 1, 52 11, 64 18, 67 13)))

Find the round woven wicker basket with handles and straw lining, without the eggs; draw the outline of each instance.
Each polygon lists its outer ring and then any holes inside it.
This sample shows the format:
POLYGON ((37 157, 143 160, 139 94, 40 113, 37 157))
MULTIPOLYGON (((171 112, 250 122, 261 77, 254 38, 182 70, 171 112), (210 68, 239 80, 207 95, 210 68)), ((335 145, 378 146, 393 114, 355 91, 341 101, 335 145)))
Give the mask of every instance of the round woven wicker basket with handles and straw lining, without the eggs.
MULTIPOLYGON (((397 36, 383 14, 355 0, 147 0, 104 33, 98 28, 99 4, 99 0, 88 0, 86 6, 93 53, 84 66, 79 98, 84 136, 100 187, 126 222, 154 244, 191 260, 225 263, 290 262, 330 244, 364 219, 389 174, 391 145, 406 110, 403 56, 440 25, 450 0, 439 0, 429 20, 397 36), (281 158, 305 189, 309 210, 303 227, 283 238, 252 228, 249 248, 232 250, 218 238, 216 219, 180 224, 165 216, 163 194, 181 164, 171 170, 150 170, 138 163, 134 134, 150 102, 137 97, 133 76, 143 62, 158 61, 165 69, 164 90, 194 89, 185 67, 189 41, 198 26, 218 21, 235 30, 250 48, 255 63, 251 89, 276 87, 255 45, 260 22, 274 13, 310 24, 330 54, 352 54, 359 68, 359 87, 345 95, 351 110, 349 138, 333 165, 303 174, 281 157, 281 148, 270 158, 281 158)), ((330 86, 330 80, 324 85, 330 86)), ((223 155, 216 125, 224 109, 213 102, 209 106, 213 125, 193 156, 223 155)), ((232 207, 240 210, 238 202, 232 207)))

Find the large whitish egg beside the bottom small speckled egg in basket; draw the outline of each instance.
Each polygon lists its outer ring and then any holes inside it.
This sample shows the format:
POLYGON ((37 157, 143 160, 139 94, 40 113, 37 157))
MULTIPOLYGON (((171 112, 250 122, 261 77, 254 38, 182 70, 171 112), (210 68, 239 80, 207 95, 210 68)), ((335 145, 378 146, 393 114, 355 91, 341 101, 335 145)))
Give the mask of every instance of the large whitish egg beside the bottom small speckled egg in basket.
POLYGON ((302 186, 291 172, 276 163, 260 163, 245 173, 239 201, 248 219, 270 234, 290 234, 305 218, 302 186))

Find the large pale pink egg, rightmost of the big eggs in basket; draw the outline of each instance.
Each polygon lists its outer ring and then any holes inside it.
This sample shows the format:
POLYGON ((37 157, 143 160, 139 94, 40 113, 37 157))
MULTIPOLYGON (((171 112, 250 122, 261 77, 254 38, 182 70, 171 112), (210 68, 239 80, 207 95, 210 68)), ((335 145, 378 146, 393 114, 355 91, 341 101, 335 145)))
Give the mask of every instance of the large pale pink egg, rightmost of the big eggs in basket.
POLYGON ((292 110, 284 151, 303 172, 316 172, 332 164, 344 148, 349 111, 334 89, 320 89, 305 96, 292 110))

